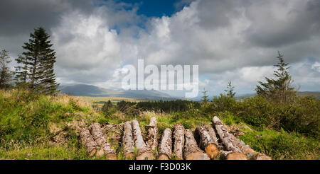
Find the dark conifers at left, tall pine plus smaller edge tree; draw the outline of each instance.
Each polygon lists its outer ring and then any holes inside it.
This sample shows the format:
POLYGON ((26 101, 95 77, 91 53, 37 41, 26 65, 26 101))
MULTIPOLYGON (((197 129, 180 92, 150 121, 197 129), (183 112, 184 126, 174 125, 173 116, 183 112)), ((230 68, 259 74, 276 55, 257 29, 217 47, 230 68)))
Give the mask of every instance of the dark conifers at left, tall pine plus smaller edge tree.
POLYGON ((55 51, 44 28, 35 28, 30 39, 22 46, 16 66, 11 70, 9 52, 0 52, 0 88, 24 88, 33 92, 54 95, 59 86, 55 81, 53 66, 55 51))

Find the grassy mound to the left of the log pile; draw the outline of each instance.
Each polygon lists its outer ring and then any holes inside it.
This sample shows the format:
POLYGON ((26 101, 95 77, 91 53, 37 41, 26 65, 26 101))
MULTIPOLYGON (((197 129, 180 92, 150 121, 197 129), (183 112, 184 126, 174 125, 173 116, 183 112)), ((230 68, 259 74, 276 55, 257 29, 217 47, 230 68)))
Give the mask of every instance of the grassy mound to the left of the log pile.
POLYGON ((74 120, 90 124, 102 118, 90 105, 68 95, 0 91, 0 105, 0 159, 87 158, 75 130, 65 131, 63 144, 50 141, 50 137, 55 129, 74 120))

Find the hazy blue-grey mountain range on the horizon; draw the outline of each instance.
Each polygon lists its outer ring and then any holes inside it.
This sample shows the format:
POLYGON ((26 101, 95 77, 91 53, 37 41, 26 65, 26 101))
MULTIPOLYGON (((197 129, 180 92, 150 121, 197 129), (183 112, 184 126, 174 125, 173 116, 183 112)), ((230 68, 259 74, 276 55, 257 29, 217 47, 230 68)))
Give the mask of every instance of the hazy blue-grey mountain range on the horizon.
POLYGON ((99 88, 97 86, 77 84, 71 86, 59 86, 60 93, 66 93, 74 96, 90 96, 90 97, 123 97, 137 98, 146 100, 174 100, 177 98, 171 97, 166 93, 161 93, 155 90, 111 90, 99 88))

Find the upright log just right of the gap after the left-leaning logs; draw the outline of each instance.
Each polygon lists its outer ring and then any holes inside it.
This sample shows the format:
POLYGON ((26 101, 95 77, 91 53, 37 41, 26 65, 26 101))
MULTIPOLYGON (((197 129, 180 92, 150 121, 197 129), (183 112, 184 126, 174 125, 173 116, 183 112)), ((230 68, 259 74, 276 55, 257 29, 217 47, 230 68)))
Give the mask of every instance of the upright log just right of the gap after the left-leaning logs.
POLYGON ((124 159, 134 159, 134 139, 132 134, 132 124, 129 121, 124 123, 122 144, 124 159))

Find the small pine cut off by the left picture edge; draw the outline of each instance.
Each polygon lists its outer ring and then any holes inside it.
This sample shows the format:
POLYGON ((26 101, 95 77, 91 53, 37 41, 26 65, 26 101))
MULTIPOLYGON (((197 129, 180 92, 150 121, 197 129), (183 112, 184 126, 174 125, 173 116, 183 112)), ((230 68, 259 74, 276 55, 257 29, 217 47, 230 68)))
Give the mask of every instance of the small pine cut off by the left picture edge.
POLYGON ((9 88, 13 72, 9 69, 8 64, 11 62, 9 52, 2 50, 0 52, 0 88, 9 88))

